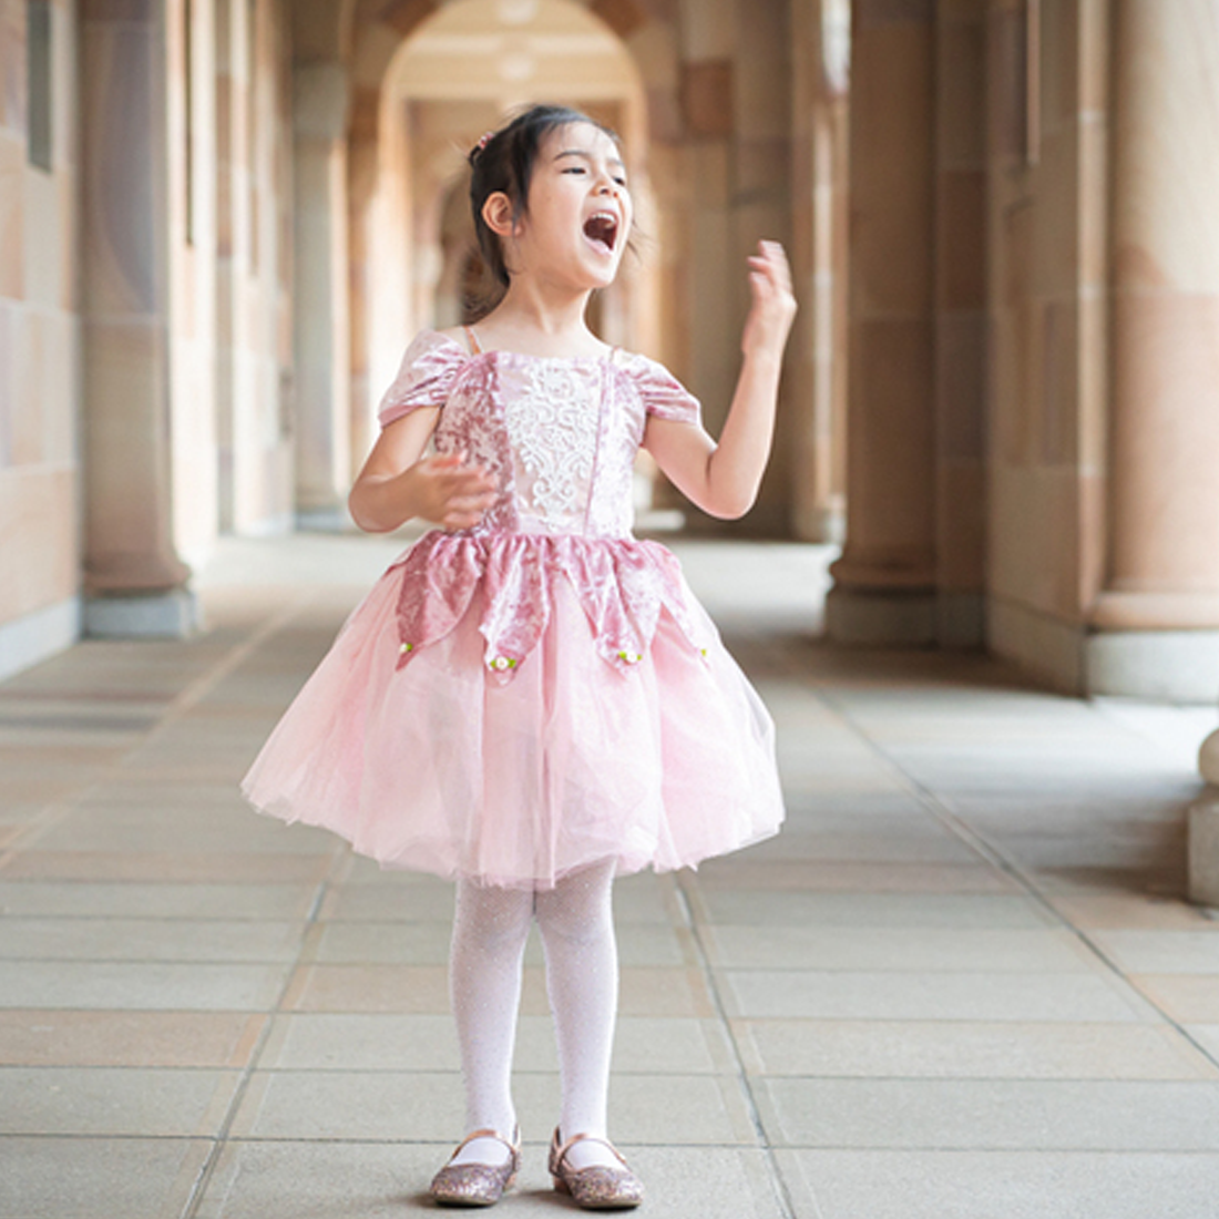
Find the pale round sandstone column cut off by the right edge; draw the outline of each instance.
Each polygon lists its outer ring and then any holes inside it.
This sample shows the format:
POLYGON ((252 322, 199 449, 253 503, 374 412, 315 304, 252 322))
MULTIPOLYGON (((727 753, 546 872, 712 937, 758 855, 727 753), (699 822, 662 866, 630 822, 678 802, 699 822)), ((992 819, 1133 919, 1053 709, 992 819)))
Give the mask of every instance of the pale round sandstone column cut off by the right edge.
POLYGON ((1219 23, 1120 0, 1104 588, 1089 691, 1212 701, 1219 673, 1219 23))

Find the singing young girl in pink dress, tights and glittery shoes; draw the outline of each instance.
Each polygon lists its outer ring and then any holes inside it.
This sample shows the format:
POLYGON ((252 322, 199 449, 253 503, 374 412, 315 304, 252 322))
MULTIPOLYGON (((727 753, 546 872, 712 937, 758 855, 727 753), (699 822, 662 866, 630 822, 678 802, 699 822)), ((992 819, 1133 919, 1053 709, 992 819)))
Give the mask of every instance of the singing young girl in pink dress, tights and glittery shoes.
POLYGON ((477 325, 411 344, 350 500, 367 530, 439 528, 352 613, 244 787, 386 867, 456 878, 467 1137, 436 1201, 490 1206, 516 1178, 510 1075, 536 919, 562 1084, 555 1187, 631 1207, 642 1186, 606 1120, 611 883, 697 864, 783 819, 766 709, 677 560, 631 536, 631 464, 642 445, 703 511, 746 512, 796 306, 783 250, 762 243, 717 445, 673 377, 585 323, 630 233, 614 135, 539 106, 469 160, 502 297, 477 325))

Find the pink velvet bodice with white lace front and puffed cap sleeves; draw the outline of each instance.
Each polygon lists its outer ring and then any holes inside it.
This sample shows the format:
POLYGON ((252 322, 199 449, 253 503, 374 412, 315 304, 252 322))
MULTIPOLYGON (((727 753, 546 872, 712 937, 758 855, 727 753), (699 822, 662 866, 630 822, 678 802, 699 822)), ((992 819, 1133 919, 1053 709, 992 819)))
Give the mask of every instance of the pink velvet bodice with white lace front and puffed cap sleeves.
POLYGON ((694 422, 698 403, 642 356, 468 355, 435 332, 407 351, 383 424, 442 405, 435 445, 464 450, 500 496, 477 531, 630 536, 633 469, 649 413, 694 422))

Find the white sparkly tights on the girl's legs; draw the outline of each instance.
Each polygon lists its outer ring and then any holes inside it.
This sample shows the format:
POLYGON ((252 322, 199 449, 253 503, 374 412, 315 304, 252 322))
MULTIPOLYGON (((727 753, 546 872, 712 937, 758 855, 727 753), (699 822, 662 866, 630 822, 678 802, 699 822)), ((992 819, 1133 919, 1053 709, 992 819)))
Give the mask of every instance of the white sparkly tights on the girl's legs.
MULTIPOLYGON (((610 1053, 618 1009, 618 950, 613 934, 613 861, 564 876, 553 889, 457 884, 449 984, 466 1081, 466 1129, 511 1137, 512 1048, 521 1004, 521 962, 534 918, 546 956, 546 990, 555 1018, 562 1086, 560 1129, 606 1137, 610 1053)), ((502 1145, 474 1140, 457 1163, 500 1163, 502 1145)), ((572 1150, 574 1168, 608 1163, 597 1143, 572 1150), (583 1154, 578 1156, 580 1152, 583 1154)))

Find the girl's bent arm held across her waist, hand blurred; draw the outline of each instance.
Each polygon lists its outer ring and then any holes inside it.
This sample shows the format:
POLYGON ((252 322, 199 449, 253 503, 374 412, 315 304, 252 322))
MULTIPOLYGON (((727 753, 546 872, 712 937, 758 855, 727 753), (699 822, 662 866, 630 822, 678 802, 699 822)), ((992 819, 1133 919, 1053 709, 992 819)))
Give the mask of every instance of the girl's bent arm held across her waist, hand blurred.
POLYGON ((495 502, 495 482, 464 453, 424 457, 440 408, 419 407, 389 424, 347 496, 351 517, 368 533, 389 533, 412 517, 445 529, 469 529, 495 502))

